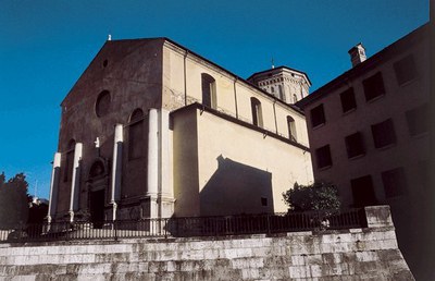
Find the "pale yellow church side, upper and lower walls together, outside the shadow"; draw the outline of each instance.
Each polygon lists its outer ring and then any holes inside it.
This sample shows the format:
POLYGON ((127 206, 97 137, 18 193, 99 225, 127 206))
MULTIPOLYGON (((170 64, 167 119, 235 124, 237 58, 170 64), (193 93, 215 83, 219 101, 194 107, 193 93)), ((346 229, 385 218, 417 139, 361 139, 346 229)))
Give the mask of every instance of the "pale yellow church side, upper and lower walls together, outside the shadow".
MULTIPOLYGON (((303 114, 171 44, 163 48, 163 107, 176 110, 194 102, 201 103, 202 73, 215 80, 217 111, 252 124, 251 97, 254 97, 261 102, 263 129, 288 138, 287 115, 291 115, 296 121, 298 143, 308 147, 303 114)), ((313 180, 310 152, 297 146, 195 108, 178 110, 172 118, 177 217, 286 211, 282 193, 295 182, 308 184, 313 180), (248 175, 227 173, 225 169, 232 168, 248 175), (226 179, 226 174, 236 179, 226 179), (261 184, 256 182, 258 179, 261 184), (211 181, 217 190, 213 192, 219 192, 219 186, 234 188, 232 196, 240 204, 232 207, 216 204, 215 209, 204 206, 214 199, 207 197, 211 181), (263 185, 268 185, 264 191, 261 190, 263 185), (247 193, 250 186, 252 192, 247 193), (269 206, 273 205, 273 209, 261 206, 261 197, 272 200, 269 206)))

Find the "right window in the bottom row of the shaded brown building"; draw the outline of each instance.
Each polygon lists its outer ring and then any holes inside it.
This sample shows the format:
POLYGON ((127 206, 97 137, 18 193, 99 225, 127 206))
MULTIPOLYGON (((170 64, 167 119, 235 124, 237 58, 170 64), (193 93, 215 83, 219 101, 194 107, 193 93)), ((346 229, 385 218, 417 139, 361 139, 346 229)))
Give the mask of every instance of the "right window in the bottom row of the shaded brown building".
POLYGON ((402 195, 407 191, 407 178, 403 168, 397 168, 381 173, 385 197, 391 198, 402 195))

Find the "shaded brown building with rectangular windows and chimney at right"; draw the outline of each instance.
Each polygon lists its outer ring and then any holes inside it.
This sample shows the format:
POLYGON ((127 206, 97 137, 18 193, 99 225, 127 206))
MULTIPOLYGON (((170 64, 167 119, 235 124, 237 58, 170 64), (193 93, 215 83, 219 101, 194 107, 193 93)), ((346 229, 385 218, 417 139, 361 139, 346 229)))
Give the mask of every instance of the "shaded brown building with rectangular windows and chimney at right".
POLYGON ((428 206, 428 24, 366 58, 297 102, 303 108, 314 179, 333 182, 346 206, 388 204, 399 246, 419 270, 428 206))

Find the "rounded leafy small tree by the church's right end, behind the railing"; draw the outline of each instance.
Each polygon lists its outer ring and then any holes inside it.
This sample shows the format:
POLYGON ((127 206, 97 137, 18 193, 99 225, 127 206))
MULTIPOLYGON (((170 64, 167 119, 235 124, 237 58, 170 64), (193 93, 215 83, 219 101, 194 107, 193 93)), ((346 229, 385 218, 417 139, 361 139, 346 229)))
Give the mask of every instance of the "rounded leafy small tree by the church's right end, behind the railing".
POLYGON ((291 210, 337 210, 340 208, 338 190, 325 182, 314 182, 310 185, 295 183, 294 187, 283 193, 285 203, 291 210))

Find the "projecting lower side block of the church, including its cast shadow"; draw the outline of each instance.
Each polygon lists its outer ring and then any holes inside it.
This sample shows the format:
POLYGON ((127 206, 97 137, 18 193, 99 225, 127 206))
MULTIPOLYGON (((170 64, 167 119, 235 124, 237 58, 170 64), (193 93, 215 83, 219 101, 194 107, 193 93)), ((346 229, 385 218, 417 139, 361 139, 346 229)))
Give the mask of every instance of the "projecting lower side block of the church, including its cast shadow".
POLYGON ((312 182, 299 147, 197 108, 173 120, 177 217, 286 211, 282 193, 312 182))

